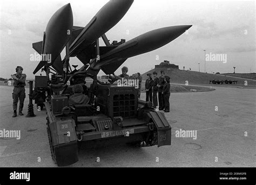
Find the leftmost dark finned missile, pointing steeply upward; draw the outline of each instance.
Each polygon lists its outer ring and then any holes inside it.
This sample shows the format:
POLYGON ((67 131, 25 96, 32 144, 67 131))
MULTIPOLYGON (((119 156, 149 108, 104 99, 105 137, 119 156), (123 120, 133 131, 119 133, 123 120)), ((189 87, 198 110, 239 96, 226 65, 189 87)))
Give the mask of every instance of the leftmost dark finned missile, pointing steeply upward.
POLYGON ((33 74, 42 67, 51 65, 59 73, 63 72, 62 61, 59 56, 71 37, 72 27, 73 13, 69 3, 53 14, 46 26, 43 41, 33 43, 33 48, 42 54, 42 61, 39 62, 33 74), (41 51, 40 48, 42 48, 41 51), (58 60, 56 60, 57 58, 58 60))

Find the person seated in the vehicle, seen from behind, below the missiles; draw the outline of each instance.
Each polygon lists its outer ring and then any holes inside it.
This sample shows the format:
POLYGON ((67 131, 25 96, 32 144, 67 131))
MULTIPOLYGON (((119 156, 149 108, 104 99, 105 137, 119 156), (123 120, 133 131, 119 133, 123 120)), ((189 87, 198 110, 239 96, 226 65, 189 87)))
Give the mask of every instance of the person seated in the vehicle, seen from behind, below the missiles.
POLYGON ((83 87, 80 84, 76 84, 72 88, 73 95, 69 97, 69 105, 74 104, 87 104, 89 97, 83 94, 83 87))

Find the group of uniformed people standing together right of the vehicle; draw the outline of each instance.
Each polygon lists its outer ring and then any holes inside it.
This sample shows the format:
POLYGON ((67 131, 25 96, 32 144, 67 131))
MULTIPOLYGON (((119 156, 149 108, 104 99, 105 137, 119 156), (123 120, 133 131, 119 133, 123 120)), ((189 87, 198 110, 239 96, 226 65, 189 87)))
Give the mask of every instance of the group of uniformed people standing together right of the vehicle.
POLYGON ((152 102, 154 108, 157 108, 159 101, 159 110, 164 110, 164 112, 170 112, 170 77, 165 76, 165 72, 163 70, 161 70, 160 73, 160 77, 157 77, 157 72, 153 72, 153 79, 151 73, 147 74, 147 80, 145 83, 146 102, 152 102))

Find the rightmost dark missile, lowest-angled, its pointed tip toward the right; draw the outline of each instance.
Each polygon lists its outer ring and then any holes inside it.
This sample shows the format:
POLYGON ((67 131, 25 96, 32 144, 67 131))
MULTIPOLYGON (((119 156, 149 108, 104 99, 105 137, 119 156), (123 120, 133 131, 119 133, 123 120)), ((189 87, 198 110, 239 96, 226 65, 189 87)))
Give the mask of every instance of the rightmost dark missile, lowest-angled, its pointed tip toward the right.
POLYGON ((100 61, 92 67, 102 68, 104 73, 113 73, 127 58, 153 51, 179 37, 192 25, 169 26, 139 35, 100 56, 100 61), (118 65, 114 65, 118 61, 118 65))

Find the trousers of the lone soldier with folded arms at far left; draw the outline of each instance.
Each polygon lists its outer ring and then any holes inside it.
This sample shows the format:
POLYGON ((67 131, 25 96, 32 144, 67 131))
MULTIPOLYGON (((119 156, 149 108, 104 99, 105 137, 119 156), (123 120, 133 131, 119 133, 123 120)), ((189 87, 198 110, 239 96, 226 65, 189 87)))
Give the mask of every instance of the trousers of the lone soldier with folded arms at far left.
POLYGON ((12 103, 12 108, 17 110, 17 105, 19 101, 19 112, 22 111, 25 100, 25 88, 24 87, 14 87, 14 93, 12 93, 12 99, 14 99, 12 103))

